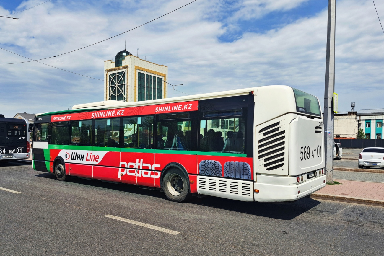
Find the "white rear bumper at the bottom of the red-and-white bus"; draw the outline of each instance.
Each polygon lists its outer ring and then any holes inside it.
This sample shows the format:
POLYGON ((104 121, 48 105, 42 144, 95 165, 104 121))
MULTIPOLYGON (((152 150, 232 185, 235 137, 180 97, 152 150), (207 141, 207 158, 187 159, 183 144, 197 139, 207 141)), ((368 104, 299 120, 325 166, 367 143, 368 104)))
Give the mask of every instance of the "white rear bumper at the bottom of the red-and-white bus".
POLYGON ((320 175, 303 183, 284 185, 285 179, 291 181, 292 178, 257 175, 254 188, 258 189, 259 192, 254 193, 254 198, 255 201, 259 202, 296 201, 325 187, 325 178, 325 175, 320 175))

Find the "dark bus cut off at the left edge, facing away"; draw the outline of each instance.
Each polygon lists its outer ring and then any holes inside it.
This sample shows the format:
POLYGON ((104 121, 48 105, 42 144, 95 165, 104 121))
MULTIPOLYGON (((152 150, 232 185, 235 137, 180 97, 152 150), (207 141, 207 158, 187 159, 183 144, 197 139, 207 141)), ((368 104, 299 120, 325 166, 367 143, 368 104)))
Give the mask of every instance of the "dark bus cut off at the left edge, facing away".
POLYGON ((30 156, 29 123, 0 115, 0 163, 30 156))

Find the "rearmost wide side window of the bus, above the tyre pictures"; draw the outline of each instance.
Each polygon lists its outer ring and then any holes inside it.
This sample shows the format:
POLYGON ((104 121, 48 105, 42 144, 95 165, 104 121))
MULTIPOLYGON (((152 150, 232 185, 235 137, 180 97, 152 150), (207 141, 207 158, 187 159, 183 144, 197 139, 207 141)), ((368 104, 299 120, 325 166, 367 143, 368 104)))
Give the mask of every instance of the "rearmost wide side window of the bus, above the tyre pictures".
POLYGON ((245 154, 245 118, 200 120, 199 151, 245 154))

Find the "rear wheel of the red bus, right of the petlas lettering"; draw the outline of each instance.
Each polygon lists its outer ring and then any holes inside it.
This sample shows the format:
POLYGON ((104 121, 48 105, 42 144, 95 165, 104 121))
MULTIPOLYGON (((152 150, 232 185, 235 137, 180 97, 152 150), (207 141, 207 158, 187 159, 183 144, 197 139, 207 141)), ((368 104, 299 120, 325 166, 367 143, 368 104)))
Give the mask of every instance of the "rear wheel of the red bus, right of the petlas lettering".
POLYGON ((178 168, 169 169, 162 183, 164 193, 170 201, 182 202, 192 197, 189 192, 189 179, 178 168))

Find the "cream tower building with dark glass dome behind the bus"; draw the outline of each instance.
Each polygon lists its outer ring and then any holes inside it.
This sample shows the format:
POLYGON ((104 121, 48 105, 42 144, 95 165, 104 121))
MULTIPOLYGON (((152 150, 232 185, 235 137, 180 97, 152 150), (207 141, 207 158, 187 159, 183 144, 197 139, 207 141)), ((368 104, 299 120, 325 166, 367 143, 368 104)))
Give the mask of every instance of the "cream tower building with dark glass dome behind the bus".
POLYGON ((104 100, 148 101, 167 97, 168 67, 120 51, 104 61, 104 100))

